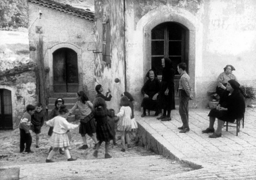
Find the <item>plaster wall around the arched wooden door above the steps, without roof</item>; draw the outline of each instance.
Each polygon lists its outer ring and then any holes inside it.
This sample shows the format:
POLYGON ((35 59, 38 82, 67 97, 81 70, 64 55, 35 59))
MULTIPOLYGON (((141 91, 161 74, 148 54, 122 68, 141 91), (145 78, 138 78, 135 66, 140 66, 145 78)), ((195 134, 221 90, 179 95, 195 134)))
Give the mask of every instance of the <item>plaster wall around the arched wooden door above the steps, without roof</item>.
MULTIPOLYGON (((87 51, 94 49, 93 22, 55 11, 46 7, 28 3, 29 10, 29 45, 35 46, 35 40, 43 36, 45 66, 50 67, 48 74, 48 87, 53 92, 52 50, 56 47, 68 47, 77 52, 79 70, 79 90, 86 90, 89 96, 94 96, 94 62, 93 53, 87 51), (41 10, 41 19, 38 11, 41 10), (35 33, 36 26, 42 26, 42 34, 35 33)), ((36 51, 30 51, 30 58, 36 60, 36 51)))

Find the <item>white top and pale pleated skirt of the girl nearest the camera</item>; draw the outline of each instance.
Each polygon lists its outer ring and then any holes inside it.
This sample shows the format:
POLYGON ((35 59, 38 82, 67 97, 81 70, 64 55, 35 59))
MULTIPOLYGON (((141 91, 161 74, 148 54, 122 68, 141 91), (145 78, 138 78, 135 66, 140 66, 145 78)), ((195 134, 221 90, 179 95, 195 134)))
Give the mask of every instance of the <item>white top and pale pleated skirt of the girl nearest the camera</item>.
POLYGON ((79 125, 73 125, 67 122, 64 117, 56 116, 46 122, 47 125, 53 126, 53 132, 50 139, 52 148, 65 148, 70 146, 70 141, 67 135, 67 130, 75 129, 79 125))

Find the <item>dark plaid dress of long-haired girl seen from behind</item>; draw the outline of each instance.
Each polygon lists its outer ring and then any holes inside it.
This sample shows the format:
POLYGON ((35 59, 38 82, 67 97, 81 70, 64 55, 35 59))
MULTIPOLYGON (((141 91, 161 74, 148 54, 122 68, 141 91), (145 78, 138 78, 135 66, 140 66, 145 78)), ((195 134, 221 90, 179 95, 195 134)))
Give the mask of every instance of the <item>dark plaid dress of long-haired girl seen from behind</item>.
POLYGON ((108 109, 103 109, 103 107, 97 107, 88 116, 81 119, 81 124, 87 123, 95 118, 96 120, 96 136, 100 142, 109 142, 113 139, 112 129, 108 124, 108 109))

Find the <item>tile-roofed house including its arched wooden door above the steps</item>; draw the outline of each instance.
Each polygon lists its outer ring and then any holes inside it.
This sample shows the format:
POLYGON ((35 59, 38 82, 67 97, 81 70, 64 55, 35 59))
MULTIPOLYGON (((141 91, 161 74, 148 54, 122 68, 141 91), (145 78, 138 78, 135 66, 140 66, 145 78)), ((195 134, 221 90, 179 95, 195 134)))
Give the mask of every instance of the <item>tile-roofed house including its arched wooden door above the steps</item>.
POLYGON ((38 61, 36 43, 42 38, 49 96, 76 96, 79 90, 95 96, 94 56, 88 51, 94 48, 94 13, 52 0, 28 0, 28 14, 30 58, 38 61))

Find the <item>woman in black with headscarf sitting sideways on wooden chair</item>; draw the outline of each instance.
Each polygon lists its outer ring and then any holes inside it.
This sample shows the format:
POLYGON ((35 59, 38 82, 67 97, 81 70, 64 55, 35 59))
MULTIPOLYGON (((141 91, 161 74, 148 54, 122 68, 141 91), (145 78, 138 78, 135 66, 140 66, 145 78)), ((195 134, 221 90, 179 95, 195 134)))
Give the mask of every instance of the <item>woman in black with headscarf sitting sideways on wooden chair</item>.
POLYGON ((210 138, 221 137, 221 129, 224 122, 234 122, 235 119, 243 117, 245 112, 244 93, 240 89, 240 84, 231 79, 227 81, 227 90, 221 96, 216 109, 212 109, 209 116, 209 128, 202 133, 213 133, 210 138), (215 118, 218 119, 218 127, 214 132, 215 118))

